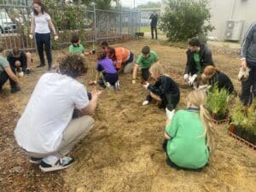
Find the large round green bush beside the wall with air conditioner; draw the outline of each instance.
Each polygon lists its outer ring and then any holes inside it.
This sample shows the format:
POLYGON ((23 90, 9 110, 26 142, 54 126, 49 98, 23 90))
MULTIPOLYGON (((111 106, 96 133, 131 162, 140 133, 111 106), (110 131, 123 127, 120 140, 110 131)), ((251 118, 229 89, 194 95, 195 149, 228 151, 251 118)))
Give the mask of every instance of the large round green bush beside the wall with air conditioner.
POLYGON ((166 13, 160 17, 160 29, 175 42, 206 37, 214 29, 209 23, 207 4, 207 0, 168 0, 166 13))

